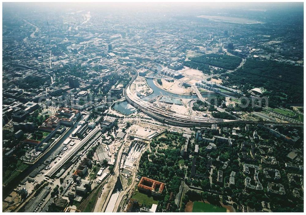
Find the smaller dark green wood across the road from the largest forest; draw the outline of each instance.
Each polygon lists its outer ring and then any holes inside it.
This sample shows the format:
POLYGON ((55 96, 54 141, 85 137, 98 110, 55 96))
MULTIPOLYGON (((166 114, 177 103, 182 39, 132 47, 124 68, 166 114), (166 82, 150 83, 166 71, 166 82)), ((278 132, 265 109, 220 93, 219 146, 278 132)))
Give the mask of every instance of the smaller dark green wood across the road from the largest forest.
POLYGON ((241 63, 241 58, 236 56, 222 54, 204 54, 190 58, 191 61, 186 61, 185 66, 195 68, 201 71, 207 71, 208 66, 220 67, 223 69, 234 70, 241 63))

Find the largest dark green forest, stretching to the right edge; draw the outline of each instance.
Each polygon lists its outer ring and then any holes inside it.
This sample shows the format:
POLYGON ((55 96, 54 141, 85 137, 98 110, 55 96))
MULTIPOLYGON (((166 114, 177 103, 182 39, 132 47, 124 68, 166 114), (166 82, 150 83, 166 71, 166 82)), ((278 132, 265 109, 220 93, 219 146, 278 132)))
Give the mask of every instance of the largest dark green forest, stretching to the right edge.
POLYGON ((223 78, 224 86, 240 86, 244 93, 253 87, 263 87, 269 96, 269 106, 303 103, 304 68, 272 60, 247 59, 243 67, 223 78), (284 101, 284 103, 282 103, 284 101))

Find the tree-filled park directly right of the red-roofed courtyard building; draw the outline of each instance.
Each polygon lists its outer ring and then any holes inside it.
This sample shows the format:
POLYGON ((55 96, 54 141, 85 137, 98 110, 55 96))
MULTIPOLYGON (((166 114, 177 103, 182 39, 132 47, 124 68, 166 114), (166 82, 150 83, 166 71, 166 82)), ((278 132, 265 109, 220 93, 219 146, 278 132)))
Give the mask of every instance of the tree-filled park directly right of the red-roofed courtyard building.
MULTIPOLYGON (((179 192, 181 179, 185 176, 184 169, 180 169, 179 159, 181 158, 181 146, 185 144, 185 137, 182 133, 165 133, 165 137, 155 137, 150 147, 155 153, 145 151, 141 156, 139 175, 166 183, 160 201, 160 210, 165 210, 171 192, 176 195, 179 192), (157 147, 159 144, 167 145, 167 149, 157 147), (149 161, 148 156, 151 161, 149 161)), ((190 141, 190 140, 189 140, 190 141)), ((178 212, 177 206, 172 204, 170 211, 178 212)))

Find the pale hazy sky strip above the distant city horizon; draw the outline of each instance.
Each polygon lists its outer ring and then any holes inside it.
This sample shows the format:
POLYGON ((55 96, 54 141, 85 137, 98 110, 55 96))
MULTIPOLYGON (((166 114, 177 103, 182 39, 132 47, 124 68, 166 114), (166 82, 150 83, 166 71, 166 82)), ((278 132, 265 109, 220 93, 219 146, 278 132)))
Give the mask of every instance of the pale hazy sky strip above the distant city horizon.
POLYGON ((49 9, 152 9, 152 10, 190 10, 190 9, 262 9, 262 10, 303 10, 303 2, 3 2, 3 10, 17 8, 49 9))

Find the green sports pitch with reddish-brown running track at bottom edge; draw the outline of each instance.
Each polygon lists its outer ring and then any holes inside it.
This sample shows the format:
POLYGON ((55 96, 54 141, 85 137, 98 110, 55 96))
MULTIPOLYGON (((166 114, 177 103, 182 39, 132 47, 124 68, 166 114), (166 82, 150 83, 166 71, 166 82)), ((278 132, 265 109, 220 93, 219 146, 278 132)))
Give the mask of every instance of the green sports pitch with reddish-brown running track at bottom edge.
POLYGON ((204 202, 188 202, 185 208, 185 212, 226 212, 226 208, 214 206, 204 202))

